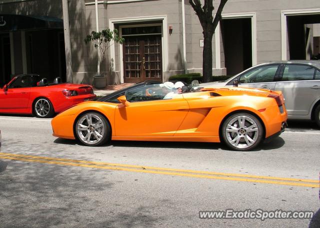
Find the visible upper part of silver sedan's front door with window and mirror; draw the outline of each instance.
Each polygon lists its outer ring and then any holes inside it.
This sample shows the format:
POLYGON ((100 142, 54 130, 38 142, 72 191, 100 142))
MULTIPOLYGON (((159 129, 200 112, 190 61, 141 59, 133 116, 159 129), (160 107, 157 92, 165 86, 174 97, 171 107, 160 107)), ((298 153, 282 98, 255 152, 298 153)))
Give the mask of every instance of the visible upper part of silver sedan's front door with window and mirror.
POLYGON ((274 89, 275 76, 279 73, 279 64, 267 64, 255 67, 240 74, 231 80, 227 86, 232 86, 235 79, 238 80, 239 87, 274 89))

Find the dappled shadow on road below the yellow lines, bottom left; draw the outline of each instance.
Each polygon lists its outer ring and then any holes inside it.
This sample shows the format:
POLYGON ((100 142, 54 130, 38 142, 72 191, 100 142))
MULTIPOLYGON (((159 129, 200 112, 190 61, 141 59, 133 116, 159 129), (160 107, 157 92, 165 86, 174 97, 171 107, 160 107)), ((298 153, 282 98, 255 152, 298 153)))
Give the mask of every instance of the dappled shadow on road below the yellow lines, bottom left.
POLYGON ((0 227, 88 223, 86 215, 104 207, 91 193, 99 193, 103 199, 113 191, 115 183, 108 181, 108 174, 105 170, 9 161, 6 171, 0 173, 0 227))

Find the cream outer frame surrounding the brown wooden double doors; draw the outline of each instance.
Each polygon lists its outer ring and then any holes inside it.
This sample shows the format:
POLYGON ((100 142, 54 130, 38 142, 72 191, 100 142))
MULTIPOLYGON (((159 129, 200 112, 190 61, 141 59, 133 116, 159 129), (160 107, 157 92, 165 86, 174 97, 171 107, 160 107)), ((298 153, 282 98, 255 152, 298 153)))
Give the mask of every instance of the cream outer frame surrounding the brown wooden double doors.
MULTIPOLYGON (((133 26, 139 27, 142 26, 145 22, 151 22, 151 21, 162 21, 162 23, 150 23, 147 25, 153 26, 154 24, 161 25, 161 44, 162 44, 162 79, 163 74, 166 71, 168 67, 168 29, 167 29, 167 16, 166 15, 157 15, 157 16, 141 16, 141 17, 127 17, 127 18, 114 18, 109 19, 109 28, 111 30, 114 29, 115 25, 121 26, 121 24, 124 23, 132 23, 136 22, 133 26), (141 24, 138 24, 141 23, 141 24)), ((119 31, 120 32, 120 31, 119 31)), ((120 33, 119 33, 120 35, 120 33)), ((124 72, 123 72, 123 53, 122 53, 122 44, 118 45, 117 53, 116 48, 114 45, 114 41, 110 42, 110 61, 114 61, 114 68, 113 71, 119 71, 120 72, 120 83, 124 83, 124 72), (118 56, 117 58, 115 56, 118 56), (116 67, 116 62, 118 62, 118 67, 116 67)))

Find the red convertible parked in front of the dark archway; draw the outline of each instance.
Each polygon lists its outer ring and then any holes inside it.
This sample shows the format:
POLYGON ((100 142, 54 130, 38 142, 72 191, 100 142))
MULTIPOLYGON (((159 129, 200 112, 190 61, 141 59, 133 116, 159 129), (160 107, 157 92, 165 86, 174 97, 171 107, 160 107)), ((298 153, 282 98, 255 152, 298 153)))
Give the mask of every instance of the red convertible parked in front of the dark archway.
POLYGON ((48 84, 46 78, 37 74, 21 74, 0 89, 0 113, 48 118, 95 97, 90 85, 61 83, 59 77, 48 84))

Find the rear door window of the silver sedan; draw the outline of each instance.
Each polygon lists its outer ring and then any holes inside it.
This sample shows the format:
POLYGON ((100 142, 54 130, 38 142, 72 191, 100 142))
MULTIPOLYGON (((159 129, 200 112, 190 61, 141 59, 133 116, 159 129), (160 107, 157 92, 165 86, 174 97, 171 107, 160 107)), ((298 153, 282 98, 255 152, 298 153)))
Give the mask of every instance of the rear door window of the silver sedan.
POLYGON ((314 68, 309 65, 285 65, 282 81, 312 80, 314 68))

